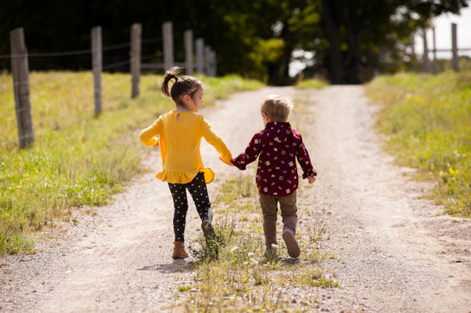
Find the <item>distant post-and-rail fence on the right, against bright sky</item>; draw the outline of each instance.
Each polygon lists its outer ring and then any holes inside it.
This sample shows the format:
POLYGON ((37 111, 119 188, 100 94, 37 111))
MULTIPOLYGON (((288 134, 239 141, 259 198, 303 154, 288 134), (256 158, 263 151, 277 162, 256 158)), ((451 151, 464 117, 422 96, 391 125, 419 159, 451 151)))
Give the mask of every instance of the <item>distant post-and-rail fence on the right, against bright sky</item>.
POLYGON ((459 48, 457 40, 457 24, 452 23, 452 47, 450 49, 437 49, 435 28, 432 28, 432 50, 428 49, 427 42, 427 30, 423 30, 423 58, 422 58, 422 69, 423 72, 437 73, 437 52, 452 52, 452 69, 454 72, 459 72, 459 52, 460 51, 471 51, 471 47, 459 48), (433 53, 433 62, 430 62, 429 53, 433 53))

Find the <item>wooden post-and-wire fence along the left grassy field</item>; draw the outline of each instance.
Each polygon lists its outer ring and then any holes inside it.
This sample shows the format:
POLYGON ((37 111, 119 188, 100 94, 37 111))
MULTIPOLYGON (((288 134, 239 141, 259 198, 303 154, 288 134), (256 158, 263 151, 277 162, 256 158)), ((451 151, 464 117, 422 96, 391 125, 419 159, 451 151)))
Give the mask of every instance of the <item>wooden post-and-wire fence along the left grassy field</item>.
MULTIPOLYGON (((23 28, 17 28, 10 32, 9 55, 0 55, 0 58, 10 58, 12 65, 12 78, 14 89, 14 104, 18 125, 19 147, 23 148, 34 142, 34 131, 32 129, 32 116, 30 105, 30 81, 28 58, 35 56, 70 56, 79 54, 91 54, 93 89, 94 89, 94 111, 101 114, 101 72, 104 69, 112 69, 123 65, 130 65, 131 74, 131 98, 139 96, 139 81, 141 69, 162 69, 166 70, 174 65, 186 67, 186 74, 192 75, 194 70, 198 74, 216 76, 216 53, 211 47, 205 46, 204 39, 196 39, 193 43, 192 30, 184 32, 185 61, 174 61, 174 39, 172 22, 162 24, 162 38, 145 39, 142 36, 142 26, 135 23, 131 26, 131 38, 129 43, 121 43, 108 47, 102 46, 101 26, 92 28, 92 42, 90 50, 78 50, 68 52, 47 52, 28 54, 23 28), (141 46, 144 42, 163 42, 163 63, 142 63, 142 60, 149 56, 141 55, 141 46), (130 59, 103 66, 103 52, 130 47, 130 59), (194 62, 194 50, 196 50, 196 63, 194 62)), ((150 56, 152 57, 152 56, 150 56)))

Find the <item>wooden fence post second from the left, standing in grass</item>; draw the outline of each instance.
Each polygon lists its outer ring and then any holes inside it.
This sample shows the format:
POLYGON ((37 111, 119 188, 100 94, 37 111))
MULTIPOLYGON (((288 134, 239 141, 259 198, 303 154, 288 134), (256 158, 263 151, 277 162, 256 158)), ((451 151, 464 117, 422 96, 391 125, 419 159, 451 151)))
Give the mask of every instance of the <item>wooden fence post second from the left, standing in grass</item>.
POLYGON ((101 113, 101 69, 102 64, 101 26, 92 28, 92 67, 95 115, 101 113))

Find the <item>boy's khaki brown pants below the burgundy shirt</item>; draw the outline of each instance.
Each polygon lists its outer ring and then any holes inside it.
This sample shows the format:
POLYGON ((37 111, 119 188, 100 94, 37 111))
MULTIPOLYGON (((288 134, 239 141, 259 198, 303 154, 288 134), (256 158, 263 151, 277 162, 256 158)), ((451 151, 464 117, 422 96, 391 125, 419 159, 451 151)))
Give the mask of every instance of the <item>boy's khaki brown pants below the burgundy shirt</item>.
POLYGON ((292 228, 296 233, 298 224, 298 208, 296 206, 296 191, 286 197, 274 197, 259 193, 260 206, 263 213, 263 233, 265 233, 266 244, 277 243, 277 211, 280 204, 281 217, 283 218, 283 229, 286 226, 292 228))

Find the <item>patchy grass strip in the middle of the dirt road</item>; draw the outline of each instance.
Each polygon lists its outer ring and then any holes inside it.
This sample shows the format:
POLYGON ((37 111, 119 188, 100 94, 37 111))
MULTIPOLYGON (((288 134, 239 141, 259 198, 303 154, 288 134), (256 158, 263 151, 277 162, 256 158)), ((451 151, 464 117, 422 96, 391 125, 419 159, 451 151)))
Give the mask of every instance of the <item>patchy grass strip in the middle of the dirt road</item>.
POLYGON ((179 304, 186 312, 303 312, 319 302, 315 288, 341 288, 322 267, 324 259, 334 258, 323 249, 323 227, 300 224, 299 259, 288 257, 283 242, 279 257, 263 257, 261 219, 248 222, 261 209, 245 208, 252 204, 254 192, 253 175, 232 177, 222 184, 214 208, 219 254, 202 236, 193 240, 190 251, 196 261, 191 266, 196 275, 191 286, 178 288, 179 293, 186 292, 186 300, 179 304))

